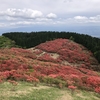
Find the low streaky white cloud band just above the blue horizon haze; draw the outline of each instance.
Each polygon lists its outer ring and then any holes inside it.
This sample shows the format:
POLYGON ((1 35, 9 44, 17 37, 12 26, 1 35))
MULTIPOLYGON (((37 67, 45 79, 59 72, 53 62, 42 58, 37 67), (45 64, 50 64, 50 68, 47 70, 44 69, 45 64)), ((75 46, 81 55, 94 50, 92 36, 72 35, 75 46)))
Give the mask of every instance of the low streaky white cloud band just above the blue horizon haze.
MULTIPOLYGON (((57 18, 56 20, 54 16, 51 16, 53 14, 48 14, 50 15, 49 18, 47 17, 41 17, 41 18, 36 18, 36 19, 10 19, 13 17, 8 16, 8 21, 3 22, 0 24, 0 27, 20 27, 20 26, 32 26, 32 25, 85 25, 85 24, 99 24, 100 25, 100 15, 96 16, 91 16, 91 17, 86 17, 86 16, 75 16, 72 18, 67 18, 67 19, 62 19, 62 18, 57 18), (52 19, 51 19, 52 18, 52 19)), ((15 17, 14 17, 15 18, 15 17)))

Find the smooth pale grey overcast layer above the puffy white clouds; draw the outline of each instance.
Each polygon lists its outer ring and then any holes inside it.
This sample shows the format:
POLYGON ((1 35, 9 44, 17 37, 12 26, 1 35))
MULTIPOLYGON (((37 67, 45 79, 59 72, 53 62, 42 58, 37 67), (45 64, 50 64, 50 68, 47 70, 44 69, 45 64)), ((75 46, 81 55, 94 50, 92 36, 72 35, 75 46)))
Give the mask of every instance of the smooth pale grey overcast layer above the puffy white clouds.
POLYGON ((0 9, 30 8, 47 14, 99 13, 100 0, 0 0, 0 9))

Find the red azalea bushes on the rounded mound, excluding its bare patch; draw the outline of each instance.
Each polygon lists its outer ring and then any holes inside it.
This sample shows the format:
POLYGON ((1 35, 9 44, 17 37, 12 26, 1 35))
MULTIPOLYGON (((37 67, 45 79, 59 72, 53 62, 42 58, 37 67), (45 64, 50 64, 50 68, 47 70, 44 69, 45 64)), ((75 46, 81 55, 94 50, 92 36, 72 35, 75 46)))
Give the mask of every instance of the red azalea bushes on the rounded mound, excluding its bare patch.
MULTIPOLYGON (((56 39, 46 43, 42 43, 36 47, 37 49, 47 52, 45 55, 38 58, 42 61, 51 61, 56 63, 62 63, 62 61, 68 61, 69 63, 80 64, 84 68, 91 68, 91 64, 96 64, 96 60, 91 60, 92 53, 87 51, 85 47, 79 45, 71 40, 56 39), (52 59, 48 53, 57 53, 59 57, 55 60, 52 59)), ((95 68, 94 68, 95 69, 95 68)))

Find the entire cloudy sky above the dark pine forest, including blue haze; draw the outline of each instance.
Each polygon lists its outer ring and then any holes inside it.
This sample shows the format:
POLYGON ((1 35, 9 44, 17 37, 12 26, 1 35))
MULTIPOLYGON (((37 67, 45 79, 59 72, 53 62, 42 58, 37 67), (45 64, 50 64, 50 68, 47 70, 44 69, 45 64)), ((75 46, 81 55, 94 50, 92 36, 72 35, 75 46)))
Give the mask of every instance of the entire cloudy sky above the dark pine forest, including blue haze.
POLYGON ((0 0, 0 35, 66 31, 100 37, 100 0, 0 0))

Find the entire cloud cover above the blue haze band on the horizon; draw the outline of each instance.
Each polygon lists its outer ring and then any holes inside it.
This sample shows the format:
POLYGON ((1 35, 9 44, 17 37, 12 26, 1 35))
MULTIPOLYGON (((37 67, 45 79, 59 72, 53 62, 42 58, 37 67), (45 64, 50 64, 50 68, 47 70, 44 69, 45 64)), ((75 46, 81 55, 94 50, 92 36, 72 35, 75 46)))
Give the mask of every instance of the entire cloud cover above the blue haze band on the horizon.
POLYGON ((0 27, 100 24, 100 0, 0 0, 0 27))

